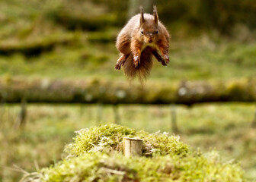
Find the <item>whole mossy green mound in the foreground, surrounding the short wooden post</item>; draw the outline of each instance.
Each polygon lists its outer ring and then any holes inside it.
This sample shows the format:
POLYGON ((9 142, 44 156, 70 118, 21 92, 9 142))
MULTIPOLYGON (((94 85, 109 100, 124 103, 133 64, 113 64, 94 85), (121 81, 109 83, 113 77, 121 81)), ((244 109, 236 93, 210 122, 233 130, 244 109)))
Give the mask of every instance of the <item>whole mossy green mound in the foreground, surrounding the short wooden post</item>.
POLYGON ((149 134, 115 124, 77 133, 66 147, 72 156, 24 181, 245 181, 239 165, 221 162, 214 151, 192 151, 167 133, 149 134), (143 156, 124 157, 123 137, 142 138, 143 156))

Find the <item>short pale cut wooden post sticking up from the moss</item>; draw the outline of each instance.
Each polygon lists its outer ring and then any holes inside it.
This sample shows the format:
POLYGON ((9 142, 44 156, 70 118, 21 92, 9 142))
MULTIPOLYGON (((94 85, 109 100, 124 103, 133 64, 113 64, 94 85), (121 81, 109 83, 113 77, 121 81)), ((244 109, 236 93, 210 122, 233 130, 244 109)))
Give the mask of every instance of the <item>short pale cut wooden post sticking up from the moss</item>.
POLYGON ((143 141, 137 138, 123 138, 123 152, 126 157, 142 156, 143 141))

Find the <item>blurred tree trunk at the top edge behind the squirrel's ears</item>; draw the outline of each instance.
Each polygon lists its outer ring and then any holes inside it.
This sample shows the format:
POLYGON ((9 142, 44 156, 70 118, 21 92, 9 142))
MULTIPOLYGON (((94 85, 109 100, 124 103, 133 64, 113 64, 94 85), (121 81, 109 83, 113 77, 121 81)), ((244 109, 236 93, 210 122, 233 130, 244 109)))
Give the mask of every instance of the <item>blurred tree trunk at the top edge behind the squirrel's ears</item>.
POLYGON ((156 0, 130 0, 128 4, 127 19, 139 13, 139 6, 142 5, 146 13, 152 14, 153 5, 156 5, 156 0))

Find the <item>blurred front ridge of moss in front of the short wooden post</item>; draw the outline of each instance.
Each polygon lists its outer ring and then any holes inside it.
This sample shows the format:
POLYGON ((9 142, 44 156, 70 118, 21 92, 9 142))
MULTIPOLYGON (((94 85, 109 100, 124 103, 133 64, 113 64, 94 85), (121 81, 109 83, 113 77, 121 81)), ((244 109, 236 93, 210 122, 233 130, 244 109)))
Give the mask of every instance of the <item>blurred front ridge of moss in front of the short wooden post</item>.
POLYGON ((125 158, 120 153, 87 153, 41 171, 41 181, 242 181, 237 165, 207 156, 164 155, 125 158))

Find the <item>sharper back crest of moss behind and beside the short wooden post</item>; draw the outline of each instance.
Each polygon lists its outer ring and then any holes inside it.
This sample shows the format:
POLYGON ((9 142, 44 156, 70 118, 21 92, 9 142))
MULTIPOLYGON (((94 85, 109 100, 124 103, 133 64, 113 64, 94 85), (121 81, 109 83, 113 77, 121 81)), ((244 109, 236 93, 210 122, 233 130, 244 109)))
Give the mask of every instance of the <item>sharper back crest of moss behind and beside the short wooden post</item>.
POLYGON ((123 137, 139 137, 143 140, 143 155, 185 155, 188 146, 178 141, 178 137, 168 137, 167 133, 149 134, 115 124, 106 124, 77 131, 75 142, 66 146, 69 155, 104 149, 123 151, 123 137))

